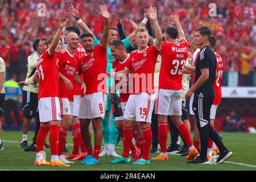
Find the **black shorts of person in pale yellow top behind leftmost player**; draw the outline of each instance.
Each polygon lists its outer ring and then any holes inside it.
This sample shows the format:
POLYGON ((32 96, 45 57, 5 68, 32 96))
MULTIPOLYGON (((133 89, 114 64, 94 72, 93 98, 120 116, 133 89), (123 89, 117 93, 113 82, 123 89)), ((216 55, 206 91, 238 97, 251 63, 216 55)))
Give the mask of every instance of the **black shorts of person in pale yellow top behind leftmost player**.
POLYGON ((23 90, 22 107, 23 117, 38 117, 38 94, 23 90))

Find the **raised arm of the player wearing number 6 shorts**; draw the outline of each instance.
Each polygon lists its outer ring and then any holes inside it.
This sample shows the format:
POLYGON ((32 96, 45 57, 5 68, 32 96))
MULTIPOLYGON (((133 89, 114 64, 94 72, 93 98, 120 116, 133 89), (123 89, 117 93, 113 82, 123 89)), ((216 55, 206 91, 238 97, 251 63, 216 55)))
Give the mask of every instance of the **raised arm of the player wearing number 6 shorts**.
POLYGON ((105 19, 100 43, 101 43, 101 46, 107 47, 108 46, 108 37, 109 37, 110 15, 109 15, 108 9, 105 5, 101 5, 100 10, 101 10, 100 14, 101 14, 102 18, 105 19))

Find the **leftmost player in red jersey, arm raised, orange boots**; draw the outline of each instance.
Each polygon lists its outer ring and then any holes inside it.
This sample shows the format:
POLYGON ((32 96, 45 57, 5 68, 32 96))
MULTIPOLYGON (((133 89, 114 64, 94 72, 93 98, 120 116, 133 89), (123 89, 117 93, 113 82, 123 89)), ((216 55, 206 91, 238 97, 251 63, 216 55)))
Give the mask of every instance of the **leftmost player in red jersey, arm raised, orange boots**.
MULTIPOLYGON (((47 49, 39 57, 36 67, 40 78, 38 107, 40 117, 40 130, 36 138, 36 160, 34 164, 68 167, 70 165, 60 162, 58 159, 58 143, 60 132, 60 102, 59 102, 59 68, 57 66, 56 53, 61 48, 60 34, 63 27, 67 24, 67 18, 59 18, 59 28, 55 36, 47 39, 47 49), (48 131, 49 143, 51 146, 51 162, 43 158, 43 147, 48 131)), ((36 81, 36 76, 32 80, 36 81)))

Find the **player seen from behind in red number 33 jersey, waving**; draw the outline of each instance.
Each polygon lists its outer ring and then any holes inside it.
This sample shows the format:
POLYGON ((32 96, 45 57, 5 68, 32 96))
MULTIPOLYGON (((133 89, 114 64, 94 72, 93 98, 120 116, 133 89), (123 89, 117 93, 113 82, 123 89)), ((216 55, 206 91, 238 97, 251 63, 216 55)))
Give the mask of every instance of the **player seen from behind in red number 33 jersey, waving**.
POLYGON ((166 42, 162 42, 162 61, 159 76, 159 97, 156 100, 155 113, 158 114, 158 136, 161 153, 152 160, 168 160, 167 156, 167 115, 179 130, 181 137, 189 148, 187 160, 198 154, 193 146, 190 132, 181 120, 182 115, 182 82, 183 69, 188 57, 188 43, 180 25, 179 18, 171 15, 171 24, 166 28, 166 42), (179 41, 177 43, 177 36, 179 41))

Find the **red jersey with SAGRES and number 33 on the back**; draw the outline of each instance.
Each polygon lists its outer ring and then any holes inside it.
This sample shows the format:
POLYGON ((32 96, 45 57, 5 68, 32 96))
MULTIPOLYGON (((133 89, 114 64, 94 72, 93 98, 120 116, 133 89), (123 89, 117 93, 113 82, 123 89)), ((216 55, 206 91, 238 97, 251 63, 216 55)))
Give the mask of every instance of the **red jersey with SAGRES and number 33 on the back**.
POLYGON ((179 44, 163 41, 161 52, 159 89, 181 90, 183 69, 188 57, 187 40, 180 39, 179 44))

